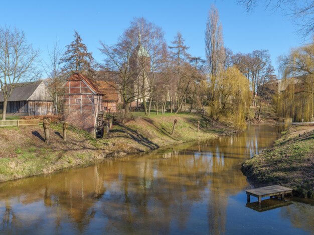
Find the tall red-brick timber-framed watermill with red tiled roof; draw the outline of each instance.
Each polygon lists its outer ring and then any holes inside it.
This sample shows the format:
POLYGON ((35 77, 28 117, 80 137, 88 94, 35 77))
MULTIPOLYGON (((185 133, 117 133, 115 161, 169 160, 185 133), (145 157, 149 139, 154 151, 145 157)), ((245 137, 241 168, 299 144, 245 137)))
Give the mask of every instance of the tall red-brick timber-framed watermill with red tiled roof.
POLYGON ((82 73, 72 73, 66 80, 63 118, 70 124, 92 134, 96 132, 97 114, 102 111, 102 92, 82 73))

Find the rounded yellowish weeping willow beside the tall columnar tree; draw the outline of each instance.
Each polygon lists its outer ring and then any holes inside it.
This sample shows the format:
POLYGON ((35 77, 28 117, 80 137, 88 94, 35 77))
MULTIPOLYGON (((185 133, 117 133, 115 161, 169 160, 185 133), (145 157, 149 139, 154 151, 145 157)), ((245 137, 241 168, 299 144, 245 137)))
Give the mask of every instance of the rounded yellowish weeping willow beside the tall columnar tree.
POLYGON ((222 72, 217 87, 219 96, 215 105, 217 119, 223 116, 236 126, 243 126, 250 104, 248 79, 236 67, 229 67, 222 72))

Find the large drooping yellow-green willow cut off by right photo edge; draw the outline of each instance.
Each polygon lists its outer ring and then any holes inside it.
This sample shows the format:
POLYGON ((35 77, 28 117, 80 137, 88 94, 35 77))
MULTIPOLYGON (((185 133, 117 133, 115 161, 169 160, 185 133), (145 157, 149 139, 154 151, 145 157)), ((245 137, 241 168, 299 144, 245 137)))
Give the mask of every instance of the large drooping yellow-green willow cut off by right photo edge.
POLYGON ((314 112, 314 40, 280 57, 277 113, 294 121, 311 121, 314 112))

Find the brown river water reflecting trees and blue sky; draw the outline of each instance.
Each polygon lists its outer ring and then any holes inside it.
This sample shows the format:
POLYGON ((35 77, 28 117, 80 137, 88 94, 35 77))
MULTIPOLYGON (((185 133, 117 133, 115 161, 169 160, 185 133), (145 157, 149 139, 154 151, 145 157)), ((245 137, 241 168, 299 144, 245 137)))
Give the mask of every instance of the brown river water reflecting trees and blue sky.
MULTIPOLYGON (((311 200, 258 212, 240 163, 281 126, 0 184, 3 233, 311 233, 311 200)), ((276 203, 276 202, 275 202, 276 203)))

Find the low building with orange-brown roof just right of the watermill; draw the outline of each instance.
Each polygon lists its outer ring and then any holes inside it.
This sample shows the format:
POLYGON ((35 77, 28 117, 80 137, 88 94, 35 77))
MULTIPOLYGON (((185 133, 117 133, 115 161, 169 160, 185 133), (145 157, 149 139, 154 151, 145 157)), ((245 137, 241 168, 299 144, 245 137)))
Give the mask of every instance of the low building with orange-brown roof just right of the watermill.
POLYGON ((117 112, 117 105, 120 98, 116 82, 98 80, 97 85, 99 90, 103 93, 102 110, 104 112, 117 112))

